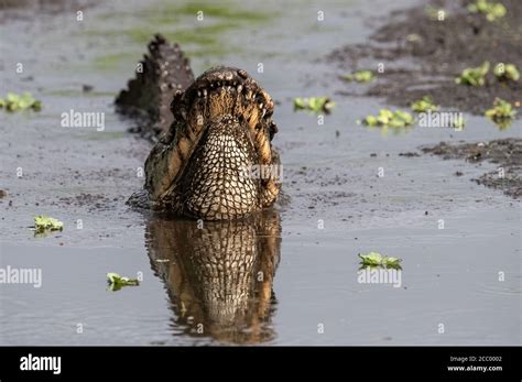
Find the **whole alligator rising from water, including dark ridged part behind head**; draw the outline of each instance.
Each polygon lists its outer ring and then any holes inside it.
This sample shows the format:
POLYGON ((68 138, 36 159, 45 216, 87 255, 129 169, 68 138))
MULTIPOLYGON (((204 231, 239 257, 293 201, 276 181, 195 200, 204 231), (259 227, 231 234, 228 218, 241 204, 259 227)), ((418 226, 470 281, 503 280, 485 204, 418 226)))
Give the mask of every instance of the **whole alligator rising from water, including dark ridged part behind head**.
POLYGON ((271 143, 278 127, 274 102, 258 81, 226 66, 193 80, 180 46, 161 35, 141 67, 116 103, 124 113, 145 116, 149 123, 140 130, 152 131, 156 142, 143 190, 128 204, 204 220, 271 207, 281 189, 280 156, 271 143))

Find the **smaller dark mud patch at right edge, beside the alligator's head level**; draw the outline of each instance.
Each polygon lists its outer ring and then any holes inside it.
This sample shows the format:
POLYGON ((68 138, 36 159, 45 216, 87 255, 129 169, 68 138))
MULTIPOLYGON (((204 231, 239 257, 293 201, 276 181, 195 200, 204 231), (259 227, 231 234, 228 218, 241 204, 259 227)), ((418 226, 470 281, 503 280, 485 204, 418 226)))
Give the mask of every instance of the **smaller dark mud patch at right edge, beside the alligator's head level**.
MULTIPOLYGON (((498 164, 498 168, 474 178, 487 187, 501 189, 513 198, 522 196, 522 139, 504 139, 491 142, 448 144, 441 142, 435 146, 423 148, 424 153, 439 155, 444 160, 465 160, 498 164)), ((455 173, 456 176, 463 173, 455 173)))

